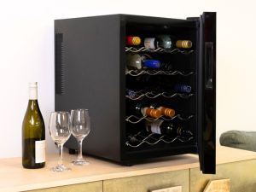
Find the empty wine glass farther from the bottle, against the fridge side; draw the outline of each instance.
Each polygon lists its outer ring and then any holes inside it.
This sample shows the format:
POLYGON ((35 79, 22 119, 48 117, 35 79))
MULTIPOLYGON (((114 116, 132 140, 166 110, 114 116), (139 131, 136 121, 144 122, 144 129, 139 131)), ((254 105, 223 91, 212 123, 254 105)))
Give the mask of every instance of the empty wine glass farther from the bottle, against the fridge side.
POLYGON ((79 143, 79 155, 77 160, 73 160, 73 165, 83 166, 89 162, 84 160, 82 154, 82 144, 84 137, 90 133, 90 117, 88 109, 75 109, 71 111, 71 131, 73 137, 76 137, 79 143))

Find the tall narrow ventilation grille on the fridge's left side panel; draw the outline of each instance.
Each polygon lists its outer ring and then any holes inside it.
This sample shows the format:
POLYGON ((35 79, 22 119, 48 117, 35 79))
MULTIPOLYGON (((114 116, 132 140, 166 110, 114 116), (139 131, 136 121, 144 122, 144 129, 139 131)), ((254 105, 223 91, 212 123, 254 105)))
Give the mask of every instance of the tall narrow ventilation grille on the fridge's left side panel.
POLYGON ((63 33, 55 33, 55 93, 64 93, 63 33))

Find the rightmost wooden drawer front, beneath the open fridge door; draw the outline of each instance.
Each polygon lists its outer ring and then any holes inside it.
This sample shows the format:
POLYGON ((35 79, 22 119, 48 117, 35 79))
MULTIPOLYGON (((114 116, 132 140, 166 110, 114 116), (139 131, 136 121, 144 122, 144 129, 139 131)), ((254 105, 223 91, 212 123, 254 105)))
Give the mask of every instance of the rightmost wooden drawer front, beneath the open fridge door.
POLYGON ((244 160, 216 166, 216 175, 204 175, 191 169, 190 191, 202 192, 210 179, 230 178, 230 192, 255 192, 256 160, 244 160))

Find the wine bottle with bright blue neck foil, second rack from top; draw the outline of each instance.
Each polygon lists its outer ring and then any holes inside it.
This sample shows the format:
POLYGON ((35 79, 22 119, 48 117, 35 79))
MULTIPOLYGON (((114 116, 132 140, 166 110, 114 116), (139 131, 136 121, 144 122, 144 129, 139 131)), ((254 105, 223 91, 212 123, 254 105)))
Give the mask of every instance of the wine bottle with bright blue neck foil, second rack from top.
POLYGON ((160 61, 153 60, 149 55, 128 54, 126 55, 126 67, 128 69, 160 68, 160 61))

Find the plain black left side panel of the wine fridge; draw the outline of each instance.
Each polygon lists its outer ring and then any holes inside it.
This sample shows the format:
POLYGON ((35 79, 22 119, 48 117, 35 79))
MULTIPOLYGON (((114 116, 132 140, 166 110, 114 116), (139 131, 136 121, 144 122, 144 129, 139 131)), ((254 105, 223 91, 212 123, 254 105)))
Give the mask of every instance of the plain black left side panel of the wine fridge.
MULTIPOLYGON (((55 20, 63 35, 63 94, 55 110, 88 108, 91 131, 83 152, 119 160, 119 15, 55 20)), ((72 137, 67 148, 76 149, 72 137)))

